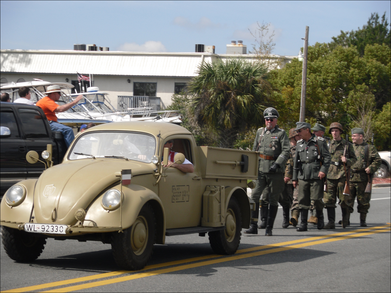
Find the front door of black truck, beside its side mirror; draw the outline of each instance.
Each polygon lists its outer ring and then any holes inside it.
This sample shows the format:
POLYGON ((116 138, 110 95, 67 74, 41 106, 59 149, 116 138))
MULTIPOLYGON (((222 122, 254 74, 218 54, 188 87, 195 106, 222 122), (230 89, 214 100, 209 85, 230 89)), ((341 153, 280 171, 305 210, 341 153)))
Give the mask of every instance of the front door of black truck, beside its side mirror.
POLYGON ((9 138, 1 139, 1 191, 4 192, 9 187, 26 179, 26 144, 20 135, 18 123, 14 110, 10 107, 2 107, 0 113, 1 126, 11 130, 9 138))

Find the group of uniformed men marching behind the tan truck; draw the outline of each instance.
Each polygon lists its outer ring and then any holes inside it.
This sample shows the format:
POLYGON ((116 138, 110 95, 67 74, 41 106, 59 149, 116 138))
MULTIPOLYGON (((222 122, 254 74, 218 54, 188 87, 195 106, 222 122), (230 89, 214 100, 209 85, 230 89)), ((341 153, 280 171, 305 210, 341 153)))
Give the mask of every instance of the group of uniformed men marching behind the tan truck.
POLYGON ((266 236, 272 236, 278 203, 283 210, 283 228, 292 225, 297 231, 307 231, 307 224, 317 229, 335 229, 335 209, 341 207, 343 228, 350 225, 355 198, 360 213, 360 225, 366 227, 366 214, 371 199, 371 177, 380 166, 376 148, 364 141, 364 130, 352 129, 352 141, 342 138, 343 126, 333 122, 325 137, 326 127, 315 123, 296 122, 296 128, 285 130, 277 125, 278 111, 267 108, 264 111, 266 127, 258 129, 253 150, 259 154, 258 180, 252 191, 255 211, 244 233, 258 234, 265 229, 266 236), (327 211, 327 223, 323 209, 327 211), (289 209, 291 219, 289 219, 289 209), (311 216, 308 219, 308 211, 311 216))

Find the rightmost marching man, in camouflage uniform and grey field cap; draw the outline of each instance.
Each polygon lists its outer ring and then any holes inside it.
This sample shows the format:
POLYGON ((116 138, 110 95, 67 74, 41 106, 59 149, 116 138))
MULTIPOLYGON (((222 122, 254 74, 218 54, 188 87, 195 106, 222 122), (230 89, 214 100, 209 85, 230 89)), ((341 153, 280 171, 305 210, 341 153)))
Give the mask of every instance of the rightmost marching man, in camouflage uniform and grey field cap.
POLYGON ((365 192, 368 179, 380 167, 382 159, 373 145, 364 141, 362 128, 352 129, 352 141, 354 152, 357 157, 352 165, 350 177, 350 211, 353 212, 354 198, 357 196, 357 212, 360 213, 360 226, 366 227, 366 214, 369 209, 371 193, 365 192))

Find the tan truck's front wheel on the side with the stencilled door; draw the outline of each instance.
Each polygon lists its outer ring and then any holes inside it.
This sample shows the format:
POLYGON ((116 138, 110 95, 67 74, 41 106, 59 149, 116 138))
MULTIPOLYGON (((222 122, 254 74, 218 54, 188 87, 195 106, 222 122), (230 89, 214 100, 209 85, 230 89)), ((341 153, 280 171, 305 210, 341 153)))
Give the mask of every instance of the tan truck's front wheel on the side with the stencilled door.
POLYGON ((111 250, 114 260, 125 270, 141 270, 152 256, 156 236, 152 207, 145 204, 135 223, 123 233, 113 232, 111 250))

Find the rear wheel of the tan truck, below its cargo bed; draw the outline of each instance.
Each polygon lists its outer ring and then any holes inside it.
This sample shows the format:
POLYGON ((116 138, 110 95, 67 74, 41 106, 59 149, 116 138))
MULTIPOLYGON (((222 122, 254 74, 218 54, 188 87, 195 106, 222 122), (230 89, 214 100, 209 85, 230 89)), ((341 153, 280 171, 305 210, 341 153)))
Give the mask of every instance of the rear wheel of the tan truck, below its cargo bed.
POLYGON ((225 230, 209 232, 209 243, 216 254, 234 254, 239 247, 242 217, 239 203, 231 197, 225 213, 225 230))

